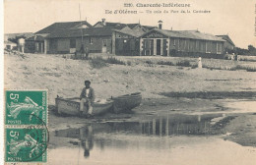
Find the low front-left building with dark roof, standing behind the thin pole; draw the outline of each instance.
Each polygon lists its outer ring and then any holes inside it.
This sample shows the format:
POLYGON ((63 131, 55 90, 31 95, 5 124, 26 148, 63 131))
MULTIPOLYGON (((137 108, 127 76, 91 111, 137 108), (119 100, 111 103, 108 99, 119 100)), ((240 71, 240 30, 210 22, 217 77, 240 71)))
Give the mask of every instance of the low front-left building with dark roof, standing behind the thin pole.
MULTIPOLYGON (((112 29, 109 27, 88 27, 60 30, 45 36, 47 53, 75 53, 82 42, 93 53, 111 53, 112 29)), ((44 42, 45 43, 45 42, 44 42)))

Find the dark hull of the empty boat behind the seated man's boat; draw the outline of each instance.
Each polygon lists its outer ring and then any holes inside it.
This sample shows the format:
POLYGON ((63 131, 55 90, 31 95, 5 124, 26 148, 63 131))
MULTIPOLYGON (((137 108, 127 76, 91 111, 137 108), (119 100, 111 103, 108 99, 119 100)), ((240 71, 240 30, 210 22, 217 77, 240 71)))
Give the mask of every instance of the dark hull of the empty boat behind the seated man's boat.
POLYGON ((114 113, 130 113, 131 110, 139 106, 142 102, 140 92, 113 97, 113 112, 114 113))

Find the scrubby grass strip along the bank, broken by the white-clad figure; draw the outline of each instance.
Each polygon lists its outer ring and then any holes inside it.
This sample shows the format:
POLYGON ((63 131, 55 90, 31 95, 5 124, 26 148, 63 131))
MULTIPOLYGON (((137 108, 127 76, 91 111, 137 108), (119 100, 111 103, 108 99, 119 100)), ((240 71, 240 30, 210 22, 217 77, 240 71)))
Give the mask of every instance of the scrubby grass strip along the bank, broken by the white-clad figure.
MULTIPOLYGON (((95 57, 96 58, 96 57, 95 57)), ((154 67, 156 65, 162 66, 177 66, 177 67, 191 67, 191 69, 197 68, 197 58, 132 58, 132 61, 129 61, 130 58, 122 59, 120 57, 97 57, 98 64, 93 65, 94 68, 101 68, 107 64, 116 64, 116 65, 144 65, 147 67, 154 67), (128 61, 127 61, 128 59, 128 61), (105 65, 102 63, 106 63, 105 65)), ((94 61, 96 63, 96 61, 94 61)), ((209 70, 227 70, 227 71, 237 71, 245 70, 247 72, 256 72, 256 66, 254 64, 246 63, 244 61, 232 61, 224 59, 203 59, 203 68, 209 70)))

